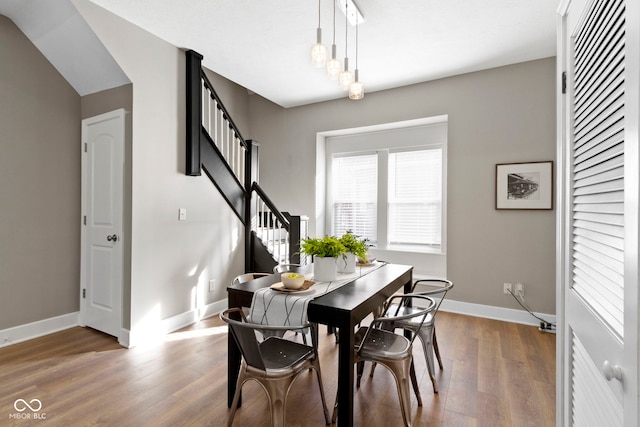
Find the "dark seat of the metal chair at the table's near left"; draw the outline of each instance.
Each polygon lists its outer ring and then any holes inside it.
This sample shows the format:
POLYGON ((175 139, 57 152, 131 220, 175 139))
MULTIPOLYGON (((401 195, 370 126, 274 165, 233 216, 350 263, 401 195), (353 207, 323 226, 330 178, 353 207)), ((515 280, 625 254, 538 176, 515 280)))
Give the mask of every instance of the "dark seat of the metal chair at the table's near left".
POLYGON ((259 347, 268 374, 281 375, 314 356, 308 345, 278 337, 267 338, 259 347))

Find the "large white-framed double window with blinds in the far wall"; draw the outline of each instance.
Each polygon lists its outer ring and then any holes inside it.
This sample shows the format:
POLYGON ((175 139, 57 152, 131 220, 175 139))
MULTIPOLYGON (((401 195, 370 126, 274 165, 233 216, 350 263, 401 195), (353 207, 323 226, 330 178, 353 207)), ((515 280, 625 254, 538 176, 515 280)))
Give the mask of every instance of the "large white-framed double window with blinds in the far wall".
POLYGON ((329 138, 327 230, 378 249, 444 252, 446 123, 329 138))

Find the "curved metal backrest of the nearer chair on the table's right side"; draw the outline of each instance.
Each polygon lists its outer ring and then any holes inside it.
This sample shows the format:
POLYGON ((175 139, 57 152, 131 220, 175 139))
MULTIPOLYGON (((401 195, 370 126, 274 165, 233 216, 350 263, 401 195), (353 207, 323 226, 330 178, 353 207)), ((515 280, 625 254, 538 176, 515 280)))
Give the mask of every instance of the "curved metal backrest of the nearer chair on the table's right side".
MULTIPOLYGON (((433 298, 421 294, 394 295, 387 300, 387 307, 393 307, 393 310, 386 312, 383 316, 380 316, 371 322, 361 343, 365 342, 366 336, 372 328, 389 330, 389 325, 391 325, 393 329, 395 322, 408 321, 411 319, 416 320, 415 324, 418 328, 422 327, 427 315, 436 309, 436 302, 433 298), (413 309, 407 310, 406 308, 409 307, 412 307, 413 309), (420 309, 415 309, 415 307, 420 307, 420 309)), ((412 336, 409 341, 413 343, 417 334, 411 335, 412 336)), ((359 351, 360 349, 358 348, 356 350, 359 351)))

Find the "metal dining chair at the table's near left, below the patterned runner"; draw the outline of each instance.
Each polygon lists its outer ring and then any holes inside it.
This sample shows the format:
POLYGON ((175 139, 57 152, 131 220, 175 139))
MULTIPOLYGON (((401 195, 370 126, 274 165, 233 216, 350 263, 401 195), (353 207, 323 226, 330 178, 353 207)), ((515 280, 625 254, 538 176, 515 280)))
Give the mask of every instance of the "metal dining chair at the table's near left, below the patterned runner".
MULTIPOLYGON (((281 335, 285 331, 302 331, 304 328, 315 330, 313 325, 307 324, 296 327, 249 323, 244 312, 239 308, 225 310, 220 314, 220 319, 229 325, 229 331, 242 354, 240 373, 233 396, 228 426, 233 424, 242 386, 249 380, 255 380, 267 394, 271 408, 271 425, 284 427, 286 425, 286 402, 289 390, 300 373, 311 369, 316 372, 318 378, 324 418, 327 425, 329 425, 329 410, 325 400, 316 347, 290 341, 279 336, 269 336, 264 341, 259 341, 256 338, 256 332, 267 330, 276 335, 281 335), (233 317, 239 318, 239 320, 233 317)), ((314 339, 317 340, 317 331, 313 335, 314 339)))

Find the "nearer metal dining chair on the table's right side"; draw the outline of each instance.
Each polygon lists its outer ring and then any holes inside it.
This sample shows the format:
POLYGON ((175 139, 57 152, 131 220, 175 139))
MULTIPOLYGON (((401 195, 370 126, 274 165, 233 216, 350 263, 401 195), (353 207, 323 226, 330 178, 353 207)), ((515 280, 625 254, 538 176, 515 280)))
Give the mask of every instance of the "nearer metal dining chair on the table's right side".
MULTIPOLYGON (((395 295, 388 301, 396 307, 396 312, 387 310, 383 316, 374 319, 369 326, 360 327, 356 332, 354 362, 358 365, 359 371, 363 362, 368 361, 379 363, 391 372, 398 389, 404 425, 410 426, 409 382, 416 383, 412 356, 413 340, 416 335, 406 338, 396 334, 393 332, 393 325, 397 322, 412 322, 418 327, 421 326, 435 309, 436 302, 432 298, 417 294, 395 295)), ((422 406, 419 395, 418 405, 422 406)), ((336 421, 337 409, 336 399, 333 422, 336 421)))

